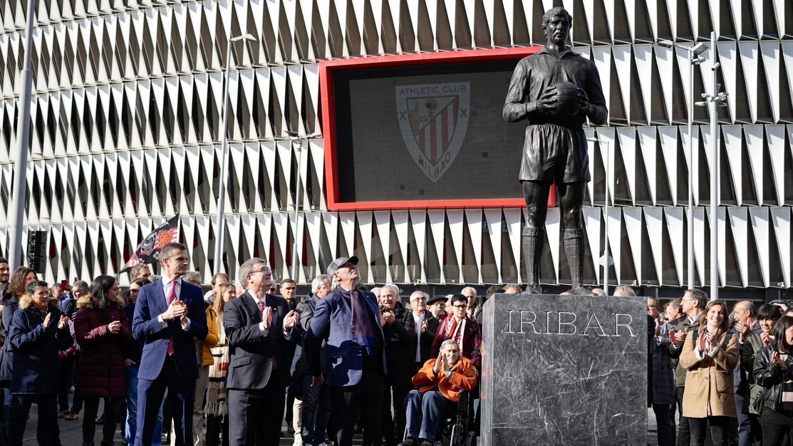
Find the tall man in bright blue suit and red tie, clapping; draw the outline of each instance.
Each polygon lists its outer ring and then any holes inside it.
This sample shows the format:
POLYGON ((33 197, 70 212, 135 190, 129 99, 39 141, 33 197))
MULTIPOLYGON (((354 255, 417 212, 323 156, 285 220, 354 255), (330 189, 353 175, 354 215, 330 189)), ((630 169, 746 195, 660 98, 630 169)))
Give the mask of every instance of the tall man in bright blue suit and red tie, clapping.
POLYGON ((189 257, 183 244, 159 252, 163 279, 140 288, 132 335, 144 340, 138 371, 138 425, 135 446, 151 445, 166 388, 174 415, 176 446, 193 446, 193 394, 198 365, 194 338, 207 334, 201 288, 184 282, 189 257), (142 420, 143 422, 140 422, 142 420))

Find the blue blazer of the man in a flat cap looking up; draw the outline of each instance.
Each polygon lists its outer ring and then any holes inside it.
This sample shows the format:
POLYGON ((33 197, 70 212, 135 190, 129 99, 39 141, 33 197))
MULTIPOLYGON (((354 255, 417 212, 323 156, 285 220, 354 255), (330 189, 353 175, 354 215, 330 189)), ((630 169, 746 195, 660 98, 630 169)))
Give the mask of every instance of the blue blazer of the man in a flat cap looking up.
MULTIPOLYGON (((366 302, 366 310, 375 317, 380 329, 375 336, 381 337, 383 371, 385 367, 385 340, 383 329, 379 323, 380 311, 377 309, 377 298, 369 291, 358 290, 366 302)), ((322 373, 320 367, 320 346, 322 340, 328 340, 328 386, 354 386, 361 380, 363 373, 363 356, 360 348, 352 342, 352 309, 350 303, 338 288, 319 302, 316 302, 314 317, 303 338, 308 369, 312 375, 322 373)))

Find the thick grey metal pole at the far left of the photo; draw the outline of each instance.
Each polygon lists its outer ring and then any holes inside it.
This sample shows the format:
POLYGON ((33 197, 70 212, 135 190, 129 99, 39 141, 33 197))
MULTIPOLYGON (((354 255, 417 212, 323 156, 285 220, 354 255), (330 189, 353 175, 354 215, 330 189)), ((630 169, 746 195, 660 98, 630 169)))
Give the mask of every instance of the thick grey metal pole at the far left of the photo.
POLYGON ((33 90, 33 21, 36 16, 36 0, 28 0, 28 15, 25 17, 25 65, 22 67, 22 83, 19 90, 17 111, 17 159, 14 166, 13 194, 9 215, 9 266, 22 265, 22 222, 25 217, 25 177, 28 172, 28 146, 30 144, 30 96, 33 90))

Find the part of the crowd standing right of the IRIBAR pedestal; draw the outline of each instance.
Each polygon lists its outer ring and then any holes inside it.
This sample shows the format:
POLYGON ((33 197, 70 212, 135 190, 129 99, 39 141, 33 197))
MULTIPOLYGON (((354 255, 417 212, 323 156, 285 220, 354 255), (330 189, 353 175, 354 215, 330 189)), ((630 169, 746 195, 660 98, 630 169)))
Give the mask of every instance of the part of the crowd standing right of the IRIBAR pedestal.
POLYGON ((663 308, 649 298, 647 313, 649 406, 660 446, 791 444, 793 309, 787 302, 757 308, 741 301, 730 310, 692 289, 663 308))

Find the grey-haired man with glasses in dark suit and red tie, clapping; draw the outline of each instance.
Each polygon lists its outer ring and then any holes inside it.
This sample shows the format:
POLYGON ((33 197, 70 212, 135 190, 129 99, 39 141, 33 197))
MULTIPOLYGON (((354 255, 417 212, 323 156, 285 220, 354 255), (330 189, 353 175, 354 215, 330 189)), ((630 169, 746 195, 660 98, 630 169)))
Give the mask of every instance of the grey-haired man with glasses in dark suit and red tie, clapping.
POLYGON ((264 260, 247 260, 239 267, 239 283, 247 291, 223 310, 228 436, 236 446, 278 446, 281 433, 291 366, 287 344, 297 341, 292 328, 298 315, 284 298, 267 294, 271 275, 264 260))

